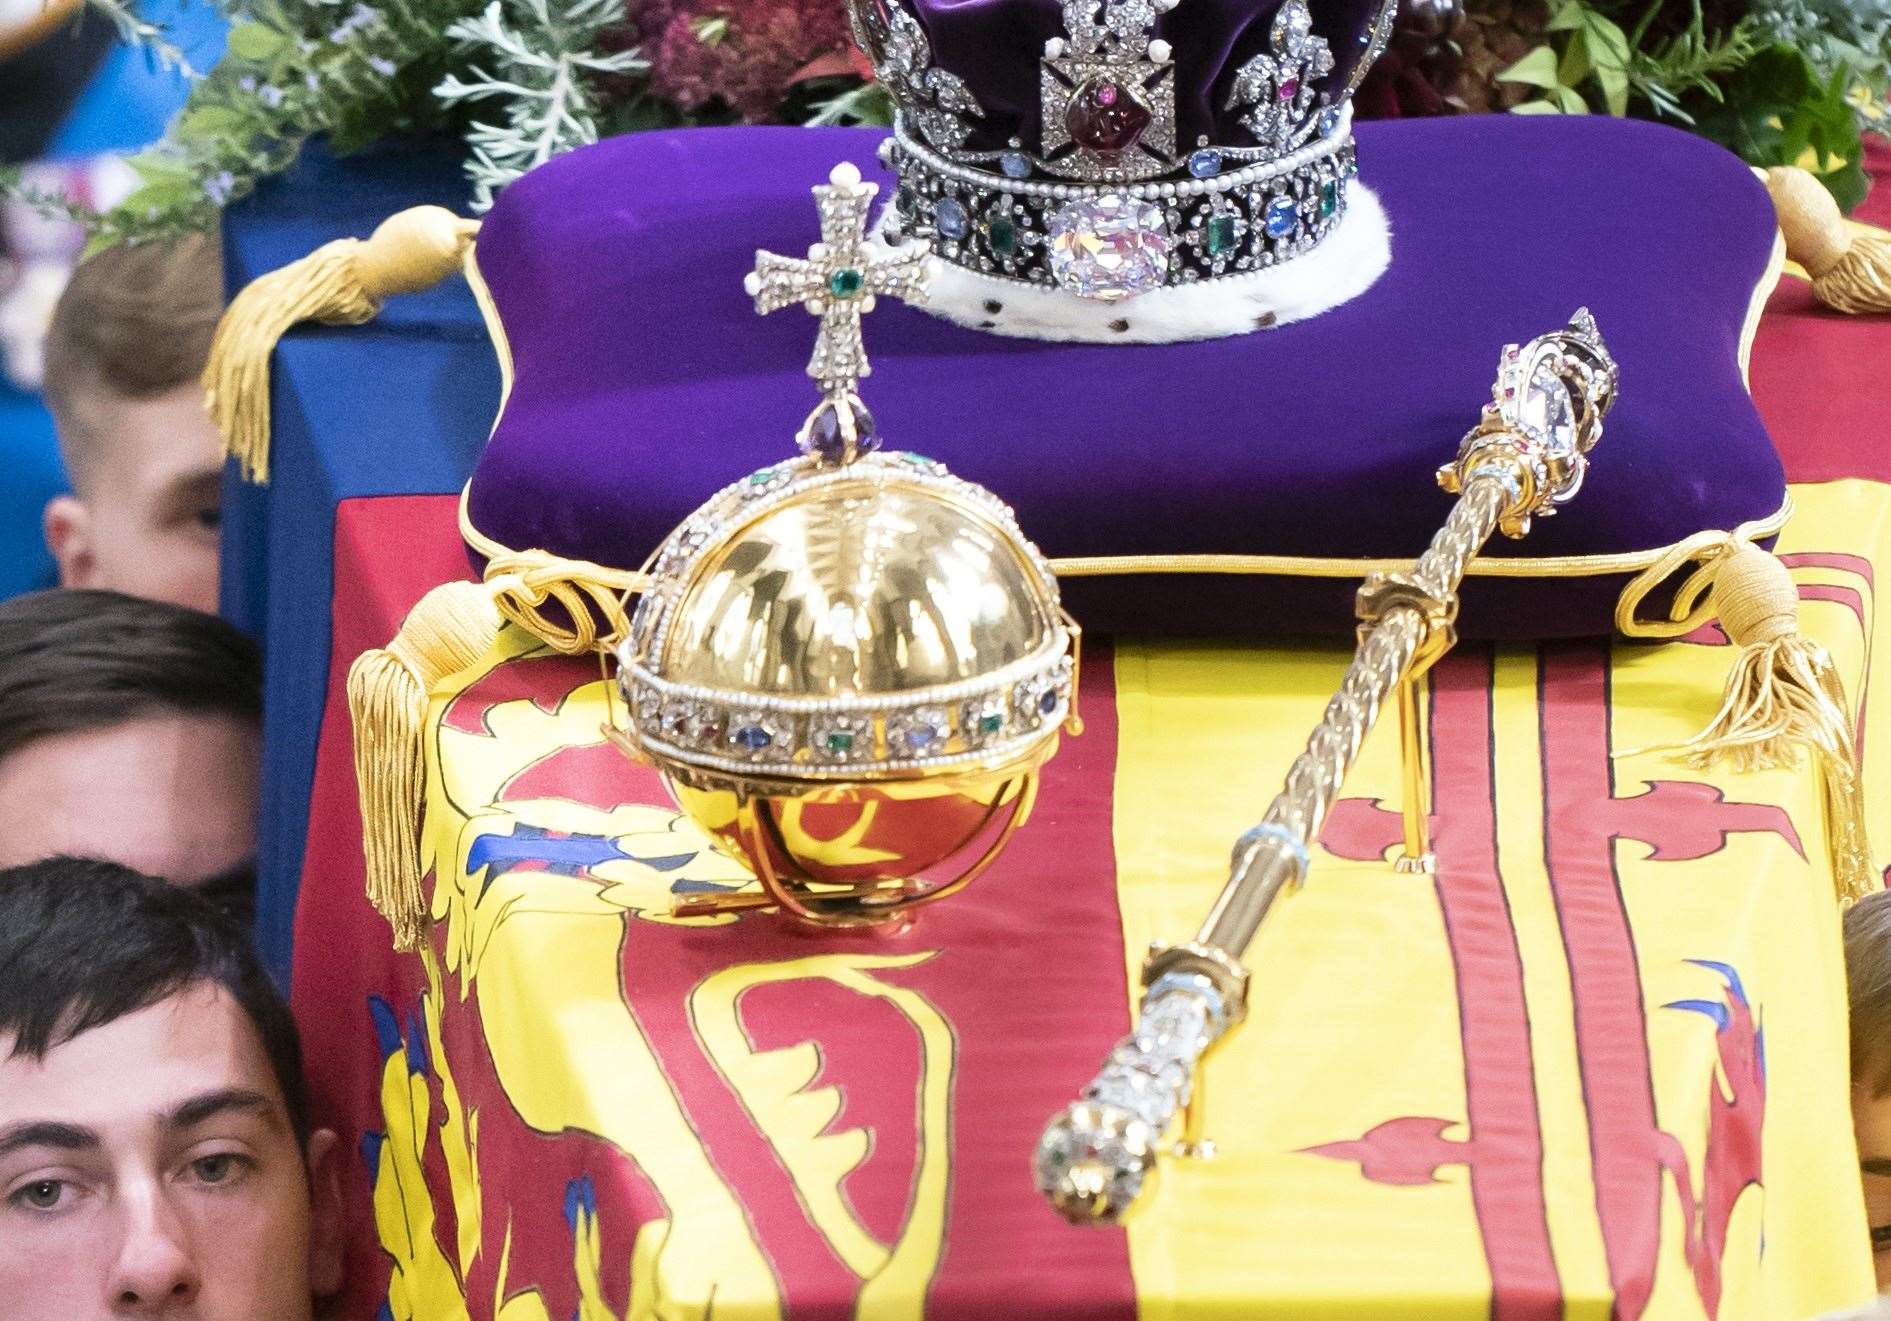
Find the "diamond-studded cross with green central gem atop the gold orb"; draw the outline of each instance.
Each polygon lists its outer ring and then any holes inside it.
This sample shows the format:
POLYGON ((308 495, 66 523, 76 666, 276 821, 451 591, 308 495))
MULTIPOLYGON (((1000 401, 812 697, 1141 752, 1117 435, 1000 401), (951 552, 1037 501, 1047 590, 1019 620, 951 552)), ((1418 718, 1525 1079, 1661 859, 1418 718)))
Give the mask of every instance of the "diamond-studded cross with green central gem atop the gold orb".
POLYGON ((868 257, 866 212, 879 185, 862 183, 853 164, 836 164, 828 181, 813 193, 821 208, 821 242, 807 249, 806 261, 758 251, 743 287, 762 316, 800 302, 821 317, 807 374, 821 382, 823 393, 847 395, 872 370, 860 342, 860 316, 874 310, 877 295, 919 302, 925 297, 927 249, 919 246, 894 257, 868 257))

